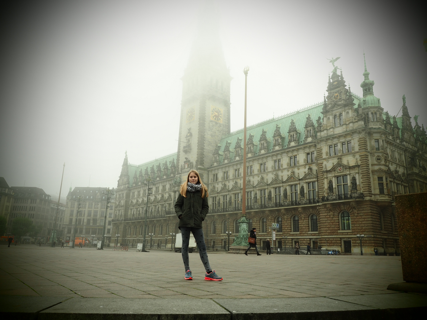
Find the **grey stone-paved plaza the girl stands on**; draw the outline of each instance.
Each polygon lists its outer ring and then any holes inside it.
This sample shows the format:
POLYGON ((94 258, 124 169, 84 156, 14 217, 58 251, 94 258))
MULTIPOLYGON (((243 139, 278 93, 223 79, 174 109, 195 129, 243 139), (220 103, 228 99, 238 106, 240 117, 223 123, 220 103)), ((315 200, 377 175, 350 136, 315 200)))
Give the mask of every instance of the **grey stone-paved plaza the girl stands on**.
POLYGON ((198 253, 190 253, 193 281, 185 281, 181 254, 171 251, 1 246, 0 314, 15 318, 26 305, 23 319, 243 319, 252 313, 254 320, 295 312, 298 319, 313 312, 322 314, 319 319, 344 319, 348 312, 365 318, 382 312, 393 319, 427 307, 425 295, 387 290, 403 281, 400 257, 210 252, 209 260, 221 282, 204 280, 198 253))

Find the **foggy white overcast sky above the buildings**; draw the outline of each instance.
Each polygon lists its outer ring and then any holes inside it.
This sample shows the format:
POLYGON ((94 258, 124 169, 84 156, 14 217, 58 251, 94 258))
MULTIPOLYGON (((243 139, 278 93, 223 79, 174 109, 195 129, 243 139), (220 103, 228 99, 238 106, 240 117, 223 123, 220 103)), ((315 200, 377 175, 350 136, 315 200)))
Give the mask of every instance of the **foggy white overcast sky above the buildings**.
POLYGON ((382 107, 395 115, 405 94, 409 114, 427 124, 425 17, 410 3, 213 1, 219 16, 199 3, 3 4, 0 176, 58 196, 65 162, 64 196, 70 185, 117 187, 126 150, 135 164, 176 152, 180 78, 198 19, 219 20, 234 78, 231 131, 243 128, 246 65, 251 125, 323 101, 326 58, 341 57, 336 65, 361 96, 363 51, 382 107))

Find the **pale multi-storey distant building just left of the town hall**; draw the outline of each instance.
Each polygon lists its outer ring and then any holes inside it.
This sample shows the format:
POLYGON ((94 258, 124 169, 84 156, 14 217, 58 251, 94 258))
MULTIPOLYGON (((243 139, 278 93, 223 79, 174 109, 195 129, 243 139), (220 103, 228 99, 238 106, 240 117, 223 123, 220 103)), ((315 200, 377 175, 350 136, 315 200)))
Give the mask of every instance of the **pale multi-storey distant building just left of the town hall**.
POLYGON ((76 236, 85 236, 86 238, 101 239, 104 227, 105 209, 107 209, 107 223, 105 234, 106 242, 111 240, 111 220, 114 212, 114 188, 110 190, 111 197, 107 206, 107 188, 94 187, 75 187, 67 194, 65 204, 64 239, 69 243, 73 239, 74 227, 77 219, 76 236), (104 192, 104 193, 102 193, 104 192), (79 205, 80 196, 80 208, 79 205))

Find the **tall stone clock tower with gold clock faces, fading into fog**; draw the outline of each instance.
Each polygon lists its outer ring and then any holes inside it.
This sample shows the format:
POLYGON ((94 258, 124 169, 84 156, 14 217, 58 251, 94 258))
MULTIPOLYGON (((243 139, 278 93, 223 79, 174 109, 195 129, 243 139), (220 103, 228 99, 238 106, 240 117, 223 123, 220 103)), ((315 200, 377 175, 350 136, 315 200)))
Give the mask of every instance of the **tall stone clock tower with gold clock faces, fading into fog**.
POLYGON ((196 169, 207 183, 213 151, 221 137, 230 133, 230 71, 218 28, 199 26, 182 80, 176 163, 181 183, 196 169))

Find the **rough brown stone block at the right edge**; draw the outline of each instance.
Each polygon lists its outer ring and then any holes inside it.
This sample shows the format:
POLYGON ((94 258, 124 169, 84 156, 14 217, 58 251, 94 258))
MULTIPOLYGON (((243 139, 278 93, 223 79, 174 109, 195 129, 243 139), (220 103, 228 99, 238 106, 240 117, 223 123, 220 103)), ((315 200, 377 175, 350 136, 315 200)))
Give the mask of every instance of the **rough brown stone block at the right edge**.
POLYGON ((403 279, 427 283, 427 192, 396 196, 403 279))

